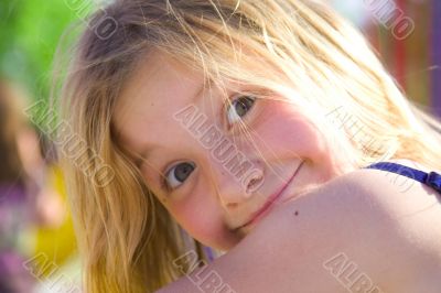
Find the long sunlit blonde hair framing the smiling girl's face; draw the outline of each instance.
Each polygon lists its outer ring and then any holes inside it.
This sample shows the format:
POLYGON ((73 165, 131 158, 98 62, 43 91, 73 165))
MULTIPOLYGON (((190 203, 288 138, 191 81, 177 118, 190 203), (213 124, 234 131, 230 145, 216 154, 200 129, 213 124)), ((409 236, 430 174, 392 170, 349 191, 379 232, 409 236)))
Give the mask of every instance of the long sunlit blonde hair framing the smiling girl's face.
POLYGON ((342 127, 355 166, 385 158, 441 169, 440 123, 402 96, 363 36, 321 1, 119 0, 93 14, 88 28, 62 94, 64 118, 87 145, 80 153, 87 170, 106 164, 115 172, 93 184, 74 162, 79 155, 63 161, 88 292, 158 290, 180 275, 172 261, 187 249, 112 127, 121 88, 152 52, 215 83, 239 80, 291 97, 318 122, 344 109, 372 138, 357 140, 342 127), (117 24, 108 37, 94 30, 103 18, 117 24))

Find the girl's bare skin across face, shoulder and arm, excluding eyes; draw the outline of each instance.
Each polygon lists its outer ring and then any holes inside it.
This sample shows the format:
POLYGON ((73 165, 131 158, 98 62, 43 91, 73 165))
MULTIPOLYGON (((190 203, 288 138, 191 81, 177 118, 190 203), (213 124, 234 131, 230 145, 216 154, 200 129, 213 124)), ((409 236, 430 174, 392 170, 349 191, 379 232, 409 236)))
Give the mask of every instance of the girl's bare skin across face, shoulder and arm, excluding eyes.
MULTIPOLYGON (((243 117, 250 133, 244 135, 238 126, 227 124, 226 97, 216 88, 201 93, 202 82, 202 75, 165 56, 150 58, 126 85, 114 122, 133 160, 151 149, 140 170, 176 221, 201 242, 228 250, 205 272, 236 292, 344 292, 343 274, 324 265, 341 254, 367 275, 369 291, 438 292, 441 281, 433 272, 441 269, 441 230, 432 227, 441 225, 441 205, 433 191, 413 184, 400 192, 384 172, 354 171, 349 159, 331 149, 282 97, 258 99, 243 117), (173 119, 190 104, 261 172, 257 191, 245 193, 237 177, 173 119), (182 162, 195 165, 186 181, 172 192, 161 188, 159 174, 182 162), (240 227, 287 183, 265 217, 240 227)), ((238 89, 258 91, 238 84, 227 88, 230 99, 238 89)), ((197 292, 203 284, 197 272, 184 272, 193 279, 182 278, 161 292, 197 292)))

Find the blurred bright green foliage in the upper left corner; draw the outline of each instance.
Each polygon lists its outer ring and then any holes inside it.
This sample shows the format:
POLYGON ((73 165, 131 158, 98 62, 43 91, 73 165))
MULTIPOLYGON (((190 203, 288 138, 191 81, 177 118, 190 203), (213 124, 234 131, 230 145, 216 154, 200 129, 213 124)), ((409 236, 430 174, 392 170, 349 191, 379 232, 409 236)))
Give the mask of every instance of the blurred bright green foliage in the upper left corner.
POLYGON ((0 0, 0 73, 21 85, 33 100, 46 100, 53 57, 67 26, 82 17, 69 2, 93 0, 0 0))

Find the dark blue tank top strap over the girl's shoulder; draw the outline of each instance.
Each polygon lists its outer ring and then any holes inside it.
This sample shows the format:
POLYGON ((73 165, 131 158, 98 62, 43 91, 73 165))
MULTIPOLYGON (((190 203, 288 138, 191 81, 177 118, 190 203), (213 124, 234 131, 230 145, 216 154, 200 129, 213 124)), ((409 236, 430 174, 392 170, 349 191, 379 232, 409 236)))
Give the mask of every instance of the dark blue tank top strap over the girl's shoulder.
POLYGON ((406 176, 411 180, 421 182, 422 184, 426 184, 426 185, 432 187, 433 189, 435 189, 438 193, 441 194, 441 175, 437 172, 426 173, 423 171, 420 171, 420 170, 417 170, 413 167, 409 167, 409 166, 405 166, 405 165, 391 163, 391 162, 378 162, 378 163, 368 165, 365 169, 376 169, 376 170, 396 173, 401 176, 406 176))

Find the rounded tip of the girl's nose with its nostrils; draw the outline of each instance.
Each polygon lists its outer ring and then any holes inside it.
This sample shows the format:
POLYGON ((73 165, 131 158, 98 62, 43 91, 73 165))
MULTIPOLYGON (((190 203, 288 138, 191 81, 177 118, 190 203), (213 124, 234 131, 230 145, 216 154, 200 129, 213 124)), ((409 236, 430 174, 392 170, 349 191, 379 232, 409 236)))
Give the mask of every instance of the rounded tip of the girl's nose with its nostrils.
POLYGON ((215 192, 226 209, 237 208, 247 202, 263 184, 263 165, 259 161, 244 158, 232 158, 222 164, 212 164, 215 192))

